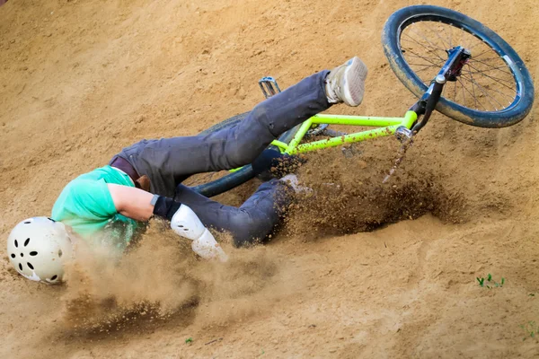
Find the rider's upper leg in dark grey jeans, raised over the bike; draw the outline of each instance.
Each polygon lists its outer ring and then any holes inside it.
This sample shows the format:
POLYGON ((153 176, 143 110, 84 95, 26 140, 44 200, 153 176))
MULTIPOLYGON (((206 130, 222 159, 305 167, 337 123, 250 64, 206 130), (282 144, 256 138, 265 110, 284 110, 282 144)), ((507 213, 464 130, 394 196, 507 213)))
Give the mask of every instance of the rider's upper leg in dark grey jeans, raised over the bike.
POLYGON ((251 163, 276 137, 328 109, 324 91, 328 71, 309 76, 262 101, 238 125, 206 136, 144 140, 119 155, 140 175, 150 178, 152 192, 172 197, 187 176, 230 170, 251 163))

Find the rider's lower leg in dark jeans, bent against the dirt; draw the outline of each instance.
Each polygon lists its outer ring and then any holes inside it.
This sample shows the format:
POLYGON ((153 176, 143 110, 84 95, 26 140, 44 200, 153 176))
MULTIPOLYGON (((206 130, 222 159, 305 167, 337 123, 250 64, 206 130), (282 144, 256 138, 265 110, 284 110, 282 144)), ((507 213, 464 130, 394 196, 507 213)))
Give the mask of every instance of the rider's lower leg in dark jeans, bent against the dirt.
POLYGON ((177 200, 189 206, 208 228, 229 232, 236 247, 263 241, 278 223, 291 199, 285 183, 270 180, 239 208, 225 206, 200 195, 189 187, 180 185, 177 200))

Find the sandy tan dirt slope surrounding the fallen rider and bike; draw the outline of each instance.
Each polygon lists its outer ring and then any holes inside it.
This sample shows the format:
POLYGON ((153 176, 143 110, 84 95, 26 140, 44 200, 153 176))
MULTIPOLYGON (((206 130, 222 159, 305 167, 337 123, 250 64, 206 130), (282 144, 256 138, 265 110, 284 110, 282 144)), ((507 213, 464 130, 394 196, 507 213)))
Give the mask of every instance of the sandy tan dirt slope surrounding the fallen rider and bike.
MULTIPOLYGON (((539 74, 535 0, 433 3, 490 26, 539 74)), ((251 109, 262 75, 287 87, 358 55, 370 70, 364 104, 331 111, 402 115, 414 99, 380 34, 409 4, 9 1, 0 237, 49 215, 67 181, 122 146, 251 109)), ((225 244, 223 266, 194 258, 161 223, 119 265, 81 255, 63 286, 23 280, 2 246, 0 357, 537 356, 537 116, 535 106, 487 130, 436 114, 389 187, 379 180, 393 138, 314 155, 300 179, 324 201, 300 200, 265 246, 225 244), (478 285, 489 273, 503 287, 478 285)), ((245 188, 220 198, 237 204, 245 188)))

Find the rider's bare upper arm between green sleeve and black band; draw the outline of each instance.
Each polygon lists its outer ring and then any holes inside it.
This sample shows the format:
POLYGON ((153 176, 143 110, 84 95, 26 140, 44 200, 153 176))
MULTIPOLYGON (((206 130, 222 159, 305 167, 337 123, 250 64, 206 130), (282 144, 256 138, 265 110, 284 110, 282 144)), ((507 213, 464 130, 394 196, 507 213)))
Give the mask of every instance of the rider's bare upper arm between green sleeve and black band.
POLYGON ((153 194, 140 188, 107 184, 112 202, 120 215, 146 222, 154 214, 153 194))

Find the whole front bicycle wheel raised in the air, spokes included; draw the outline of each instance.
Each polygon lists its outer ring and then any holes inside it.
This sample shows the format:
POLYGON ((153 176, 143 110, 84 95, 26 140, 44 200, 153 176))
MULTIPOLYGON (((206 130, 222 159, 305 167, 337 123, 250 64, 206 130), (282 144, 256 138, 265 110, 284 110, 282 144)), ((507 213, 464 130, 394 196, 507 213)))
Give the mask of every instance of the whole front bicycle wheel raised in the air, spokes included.
POLYGON ((393 13, 382 34, 385 57, 414 95, 427 91, 455 46, 472 57, 455 82, 447 82, 436 109, 477 127, 508 127, 525 118, 534 102, 534 84, 517 52, 481 22, 432 5, 393 13))

